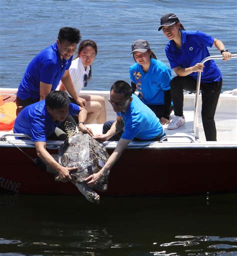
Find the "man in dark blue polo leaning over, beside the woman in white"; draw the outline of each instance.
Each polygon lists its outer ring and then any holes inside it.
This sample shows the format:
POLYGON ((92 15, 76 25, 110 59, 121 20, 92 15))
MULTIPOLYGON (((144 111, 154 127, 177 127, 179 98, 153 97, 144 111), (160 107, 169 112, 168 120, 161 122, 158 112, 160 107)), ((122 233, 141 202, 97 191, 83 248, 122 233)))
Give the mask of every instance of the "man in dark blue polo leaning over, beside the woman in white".
POLYGON ((81 36, 80 31, 72 27, 62 27, 54 44, 39 52, 28 64, 16 94, 18 112, 26 105, 45 98, 56 89, 60 80, 69 94, 80 106, 85 100, 78 97, 72 84, 69 66, 81 36))

